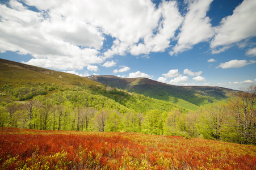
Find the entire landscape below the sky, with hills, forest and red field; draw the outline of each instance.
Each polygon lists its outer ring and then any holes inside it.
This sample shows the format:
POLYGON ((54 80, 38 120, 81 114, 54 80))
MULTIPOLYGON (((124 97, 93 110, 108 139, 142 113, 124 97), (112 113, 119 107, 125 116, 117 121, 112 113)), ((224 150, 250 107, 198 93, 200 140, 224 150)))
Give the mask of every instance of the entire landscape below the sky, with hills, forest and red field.
POLYGON ((83 78, 0 61, 3 169, 255 169, 255 86, 83 78))

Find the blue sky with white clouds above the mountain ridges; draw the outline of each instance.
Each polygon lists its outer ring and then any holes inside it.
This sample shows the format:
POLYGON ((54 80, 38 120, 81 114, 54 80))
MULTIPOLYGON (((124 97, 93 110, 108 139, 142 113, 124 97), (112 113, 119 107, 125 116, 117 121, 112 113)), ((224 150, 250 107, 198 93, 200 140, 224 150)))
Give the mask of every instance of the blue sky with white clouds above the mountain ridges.
POLYGON ((0 58, 81 76, 256 84, 255 0, 0 0, 0 58))

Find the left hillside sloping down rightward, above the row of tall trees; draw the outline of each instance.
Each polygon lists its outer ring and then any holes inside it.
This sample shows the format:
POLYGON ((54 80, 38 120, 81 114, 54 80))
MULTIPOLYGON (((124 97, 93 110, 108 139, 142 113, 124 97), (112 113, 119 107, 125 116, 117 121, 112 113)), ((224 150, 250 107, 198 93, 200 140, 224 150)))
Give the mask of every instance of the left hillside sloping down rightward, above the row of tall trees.
POLYGON ((0 59, 0 105, 12 100, 33 99, 40 95, 61 96, 61 101, 70 98, 71 101, 79 101, 98 110, 103 107, 119 112, 144 113, 153 109, 170 111, 173 108, 184 111, 184 108, 171 103, 140 94, 131 95, 124 90, 106 87, 82 76, 0 59))

